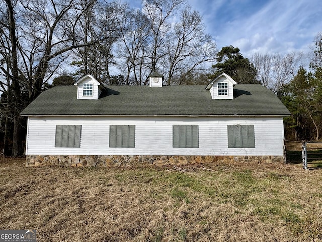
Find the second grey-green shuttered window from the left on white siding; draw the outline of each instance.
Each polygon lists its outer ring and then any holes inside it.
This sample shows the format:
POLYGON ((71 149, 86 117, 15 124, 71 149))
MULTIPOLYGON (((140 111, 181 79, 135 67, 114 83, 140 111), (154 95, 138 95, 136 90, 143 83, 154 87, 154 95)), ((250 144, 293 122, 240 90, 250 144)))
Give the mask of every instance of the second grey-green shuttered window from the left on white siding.
POLYGON ((110 125, 111 148, 134 148, 135 125, 110 125))

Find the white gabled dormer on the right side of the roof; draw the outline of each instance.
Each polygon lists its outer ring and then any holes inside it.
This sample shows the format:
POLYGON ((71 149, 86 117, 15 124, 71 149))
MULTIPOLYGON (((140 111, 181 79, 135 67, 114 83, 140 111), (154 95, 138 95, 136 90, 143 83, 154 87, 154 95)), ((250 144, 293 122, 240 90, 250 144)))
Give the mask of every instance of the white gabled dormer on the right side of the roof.
POLYGON ((233 99, 233 86, 237 83, 226 73, 209 82, 206 90, 211 93, 212 99, 233 99))

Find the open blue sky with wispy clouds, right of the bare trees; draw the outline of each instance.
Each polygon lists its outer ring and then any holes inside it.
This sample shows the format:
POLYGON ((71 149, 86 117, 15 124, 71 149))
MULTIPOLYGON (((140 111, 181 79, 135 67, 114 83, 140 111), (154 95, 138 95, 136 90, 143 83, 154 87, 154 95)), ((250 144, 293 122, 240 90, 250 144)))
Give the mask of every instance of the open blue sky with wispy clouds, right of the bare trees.
POLYGON ((203 16, 218 49, 233 45, 245 57, 309 51, 322 32, 320 0, 188 0, 203 16))

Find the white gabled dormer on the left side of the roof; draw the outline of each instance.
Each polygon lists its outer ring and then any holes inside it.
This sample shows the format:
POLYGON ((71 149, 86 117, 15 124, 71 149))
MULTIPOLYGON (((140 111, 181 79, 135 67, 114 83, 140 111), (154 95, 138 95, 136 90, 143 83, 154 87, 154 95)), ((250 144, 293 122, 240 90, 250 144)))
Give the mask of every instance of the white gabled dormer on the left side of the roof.
POLYGON ((77 99, 97 100, 104 87, 90 74, 86 74, 74 83, 77 86, 77 99))

